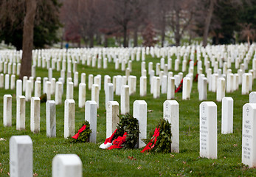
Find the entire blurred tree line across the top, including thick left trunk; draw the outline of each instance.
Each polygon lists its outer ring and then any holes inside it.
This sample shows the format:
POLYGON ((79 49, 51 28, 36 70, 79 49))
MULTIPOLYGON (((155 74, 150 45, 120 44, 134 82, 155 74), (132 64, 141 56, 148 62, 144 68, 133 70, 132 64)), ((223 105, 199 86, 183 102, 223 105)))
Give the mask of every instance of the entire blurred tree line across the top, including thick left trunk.
POLYGON ((31 75, 32 49, 72 41, 108 46, 115 38, 144 46, 201 37, 203 45, 255 40, 254 0, 1 0, 0 41, 22 49, 21 74, 31 75))

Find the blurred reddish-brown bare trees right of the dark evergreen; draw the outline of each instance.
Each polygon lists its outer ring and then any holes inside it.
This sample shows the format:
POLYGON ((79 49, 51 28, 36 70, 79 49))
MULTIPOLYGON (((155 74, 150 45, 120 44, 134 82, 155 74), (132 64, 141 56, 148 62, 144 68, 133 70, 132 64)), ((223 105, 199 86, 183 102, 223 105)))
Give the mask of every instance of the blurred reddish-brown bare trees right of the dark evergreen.
POLYGON ((64 0, 60 19, 63 39, 86 46, 108 46, 116 38, 122 46, 138 36, 152 45, 157 38, 161 46, 173 39, 181 44, 191 39, 212 38, 213 44, 253 41, 256 25, 256 1, 249 0, 64 0), (100 38, 102 37, 103 38, 100 38))

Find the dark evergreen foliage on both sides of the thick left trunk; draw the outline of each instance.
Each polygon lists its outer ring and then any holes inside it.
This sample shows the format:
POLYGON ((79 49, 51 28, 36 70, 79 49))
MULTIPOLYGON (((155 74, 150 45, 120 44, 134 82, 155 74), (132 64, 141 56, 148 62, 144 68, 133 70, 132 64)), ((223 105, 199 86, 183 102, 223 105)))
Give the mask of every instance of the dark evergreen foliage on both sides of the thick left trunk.
MULTIPOLYGON (((35 48, 44 48, 59 41, 57 32, 61 27, 58 18, 60 4, 57 0, 37 0, 34 21, 35 48)), ((26 12, 25 0, 4 0, 0 4, 0 41, 13 44, 16 49, 22 49, 24 17, 26 12), (15 13, 13 13, 15 12, 15 13)))

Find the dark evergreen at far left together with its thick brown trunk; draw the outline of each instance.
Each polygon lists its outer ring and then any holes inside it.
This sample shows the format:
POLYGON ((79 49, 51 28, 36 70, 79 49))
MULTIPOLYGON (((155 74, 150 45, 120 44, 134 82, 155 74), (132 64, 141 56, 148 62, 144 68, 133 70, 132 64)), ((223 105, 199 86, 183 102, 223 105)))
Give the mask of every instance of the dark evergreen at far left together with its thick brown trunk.
MULTIPOLYGON (((31 75, 31 62, 32 62, 32 48, 34 46, 33 39, 34 23, 38 24, 37 32, 41 32, 42 39, 38 39, 38 46, 44 46, 47 42, 50 43, 51 39, 44 38, 44 32, 52 30, 54 32, 58 29, 58 18, 52 21, 54 27, 52 28, 51 21, 53 16, 58 15, 58 1, 44 1, 44 0, 3 0, 0 4, 0 39, 13 41, 17 49, 21 49, 22 44, 22 59, 21 59, 21 73, 20 78, 24 75, 31 75), (47 10, 53 10, 48 13, 47 10), (13 13, 15 12, 15 13, 13 13), (44 21, 41 25, 39 21, 44 21), (46 24, 46 22, 48 24, 46 24), (40 27, 39 27, 40 26, 40 27), (7 30, 10 30, 7 32, 7 30), (14 34, 14 35, 13 35, 14 34), (21 38, 22 36, 22 38, 21 38), (9 37, 9 38, 8 38, 9 37), (13 38, 14 37, 14 38, 13 38)), ((39 35, 37 33, 37 35, 39 35)), ((52 35, 53 36, 53 35, 52 35)))

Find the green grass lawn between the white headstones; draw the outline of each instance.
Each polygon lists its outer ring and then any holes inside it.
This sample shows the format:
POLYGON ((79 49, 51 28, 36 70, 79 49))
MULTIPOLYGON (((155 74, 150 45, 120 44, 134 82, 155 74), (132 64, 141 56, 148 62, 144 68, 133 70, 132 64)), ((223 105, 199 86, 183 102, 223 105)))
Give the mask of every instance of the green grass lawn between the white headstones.
MULTIPOLYGON (((173 58, 174 59, 174 58, 173 58)), ((160 59, 146 56, 148 62, 159 62, 160 59)), ((235 63, 232 63, 234 65, 235 63)), ((173 60, 174 66, 174 60, 173 60)), ((180 65, 181 67, 181 65, 180 65)), ((252 67, 250 60, 249 68, 252 67)), ((135 75, 136 94, 130 96, 130 112, 133 111, 135 100, 145 100, 148 103, 147 135, 156 128, 159 118, 163 117, 163 103, 167 100, 166 94, 161 94, 158 99, 153 99, 150 94, 150 84, 147 82, 146 97, 139 97, 139 77, 141 62, 134 60, 131 75, 135 75)), ((180 69, 181 70, 181 69, 180 69)), ((232 66, 232 71, 236 71, 232 66)), ((89 74, 105 74, 111 77, 117 74, 125 75, 121 69, 115 70, 114 63, 108 63, 108 69, 97 69, 91 66, 77 64, 79 76, 86 73, 86 84, 89 74)), ((174 72, 177 74, 178 72, 174 72)), ((184 73, 184 75, 187 72, 184 73)), ((196 75, 196 67, 194 76, 196 75)), ((36 76, 47 77, 47 69, 36 68, 36 76)), ((53 77, 60 77, 60 72, 53 71, 53 77)), ((149 80, 149 77, 148 77, 149 80)), ((104 80, 102 79, 102 88, 104 80)), ((252 91, 256 90, 256 83, 252 91)), ((64 92, 66 93, 66 84, 64 92)), ((218 159, 206 159, 199 156, 199 105, 197 83, 193 82, 190 100, 182 100, 182 93, 175 94, 179 103, 179 153, 140 153, 141 149, 134 150, 102 150, 99 145, 105 140, 106 111, 104 89, 100 90, 100 108, 97 109, 97 144, 71 143, 64 139, 64 100, 56 105, 56 138, 46 137, 46 103, 41 103, 41 128, 40 133, 30 131, 30 102, 26 103, 26 130, 16 131, 16 102, 15 90, 0 90, 0 110, 3 110, 3 96, 13 96, 13 122, 12 127, 3 125, 3 114, 0 114, 0 176, 8 176, 9 172, 9 140, 13 135, 29 135, 33 142, 33 173, 38 176, 52 175, 52 159, 59 153, 75 153, 83 162, 83 176, 254 176, 255 168, 246 167, 241 163, 242 153, 242 111, 243 105, 249 103, 249 94, 241 95, 241 86, 238 91, 226 93, 226 97, 234 99, 234 126, 233 133, 221 134, 221 102, 216 102, 216 93, 208 91, 207 101, 214 101, 218 106, 218 159), (133 158, 132 158, 133 157, 133 158)), ((52 95, 54 99, 54 95, 52 95)), ((80 128, 85 119, 85 108, 78 108, 78 87, 74 88, 75 100, 75 130, 80 128)), ((91 100, 91 91, 86 86, 86 100, 91 100)), ((114 94, 114 100, 120 103, 120 96, 114 94)))

